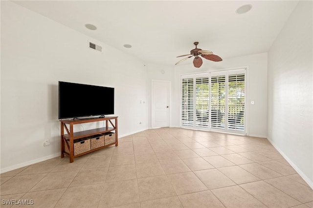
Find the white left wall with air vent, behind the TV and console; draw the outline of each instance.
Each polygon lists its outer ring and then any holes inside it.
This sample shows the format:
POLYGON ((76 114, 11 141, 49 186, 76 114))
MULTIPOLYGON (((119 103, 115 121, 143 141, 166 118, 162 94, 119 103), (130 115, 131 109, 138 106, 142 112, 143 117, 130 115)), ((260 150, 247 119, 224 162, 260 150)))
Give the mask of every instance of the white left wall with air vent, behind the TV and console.
POLYGON ((115 87, 121 137, 148 128, 147 76, 141 60, 1 1, 1 172, 59 156, 58 81, 115 87))

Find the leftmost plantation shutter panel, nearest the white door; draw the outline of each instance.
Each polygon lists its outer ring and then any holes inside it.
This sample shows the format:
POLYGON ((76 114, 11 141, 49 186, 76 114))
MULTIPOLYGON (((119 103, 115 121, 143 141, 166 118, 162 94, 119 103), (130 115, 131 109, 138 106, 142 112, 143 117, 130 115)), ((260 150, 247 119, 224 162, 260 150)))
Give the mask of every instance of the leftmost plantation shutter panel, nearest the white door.
POLYGON ((181 79, 181 125, 194 125, 194 79, 181 79))

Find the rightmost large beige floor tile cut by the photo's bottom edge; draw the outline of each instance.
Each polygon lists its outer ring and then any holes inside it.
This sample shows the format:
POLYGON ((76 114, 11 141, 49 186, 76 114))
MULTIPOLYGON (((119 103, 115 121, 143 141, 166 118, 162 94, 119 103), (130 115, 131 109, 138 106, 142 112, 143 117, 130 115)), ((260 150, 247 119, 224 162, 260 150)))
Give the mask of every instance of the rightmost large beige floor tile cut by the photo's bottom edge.
POLYGON ((242 184, 240 187, 244 188, 248 193, 270 208, 293 207, 301 204, 291 196, 264 181, 242 184))

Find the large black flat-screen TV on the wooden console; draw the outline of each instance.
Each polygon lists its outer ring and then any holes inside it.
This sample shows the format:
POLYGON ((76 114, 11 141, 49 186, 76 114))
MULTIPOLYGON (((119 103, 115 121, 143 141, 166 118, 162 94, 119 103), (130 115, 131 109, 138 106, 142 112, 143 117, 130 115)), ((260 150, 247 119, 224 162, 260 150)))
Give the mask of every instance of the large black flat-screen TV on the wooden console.
POLYGON ((114 114, 114 88, 59 81, 59 119, 114 114))

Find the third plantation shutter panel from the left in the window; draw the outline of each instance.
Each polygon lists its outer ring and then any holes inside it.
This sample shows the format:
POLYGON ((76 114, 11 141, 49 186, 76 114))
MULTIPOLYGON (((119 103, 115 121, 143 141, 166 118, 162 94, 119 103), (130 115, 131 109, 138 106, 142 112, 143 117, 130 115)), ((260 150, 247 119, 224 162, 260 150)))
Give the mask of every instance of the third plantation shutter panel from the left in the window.
POLYGON ((211 128, 225 128, 225 75, 211 77, 211 128))

